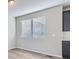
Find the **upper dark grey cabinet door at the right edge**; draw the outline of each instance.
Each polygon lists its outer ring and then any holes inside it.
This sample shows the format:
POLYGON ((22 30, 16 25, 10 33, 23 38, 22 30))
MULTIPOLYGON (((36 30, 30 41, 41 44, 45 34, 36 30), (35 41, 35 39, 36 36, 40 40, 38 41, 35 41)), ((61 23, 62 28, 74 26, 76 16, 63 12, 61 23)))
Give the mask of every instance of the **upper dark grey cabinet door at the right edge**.
POLYGON ((63 31, 70 31, 70 11, 63 12, 63 31))

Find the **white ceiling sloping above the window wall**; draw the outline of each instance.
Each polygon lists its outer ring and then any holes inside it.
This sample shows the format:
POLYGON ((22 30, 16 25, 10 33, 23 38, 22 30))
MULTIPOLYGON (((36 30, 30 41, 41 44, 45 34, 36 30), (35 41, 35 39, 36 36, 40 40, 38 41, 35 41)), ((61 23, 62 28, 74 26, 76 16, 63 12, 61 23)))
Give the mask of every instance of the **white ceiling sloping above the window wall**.
POLYGON ((16 0, 14 6, 8 6, 8 11, 16 17, 59 4, 69 5, 70 0, 16 0))

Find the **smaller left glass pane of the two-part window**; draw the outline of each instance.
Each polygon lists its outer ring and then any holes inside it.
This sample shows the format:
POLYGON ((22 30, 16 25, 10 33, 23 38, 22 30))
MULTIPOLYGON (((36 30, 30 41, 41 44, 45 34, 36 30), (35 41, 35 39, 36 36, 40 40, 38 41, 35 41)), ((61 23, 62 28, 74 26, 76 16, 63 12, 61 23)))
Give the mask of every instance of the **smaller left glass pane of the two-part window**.
POLYGON ((31 37, 31 20, 22 20, 21 25, 21 37, 31 37))

